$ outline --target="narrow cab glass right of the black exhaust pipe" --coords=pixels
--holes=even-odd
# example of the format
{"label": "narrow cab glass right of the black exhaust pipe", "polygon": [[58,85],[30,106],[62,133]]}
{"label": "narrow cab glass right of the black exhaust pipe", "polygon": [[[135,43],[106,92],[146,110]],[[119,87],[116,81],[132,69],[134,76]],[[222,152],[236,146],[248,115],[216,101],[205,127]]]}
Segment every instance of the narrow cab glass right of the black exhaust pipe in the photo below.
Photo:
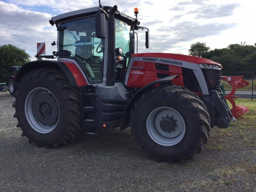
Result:
{"label": "narrow cab glass right of the black exhaust pipe", "polygon": [[132,46],[132,31],[130,31],[131,26],[127,25],[125,22],[116,19],[116,48],[121,47],[123,53],[128,59],[130,58],[133,46]]}

